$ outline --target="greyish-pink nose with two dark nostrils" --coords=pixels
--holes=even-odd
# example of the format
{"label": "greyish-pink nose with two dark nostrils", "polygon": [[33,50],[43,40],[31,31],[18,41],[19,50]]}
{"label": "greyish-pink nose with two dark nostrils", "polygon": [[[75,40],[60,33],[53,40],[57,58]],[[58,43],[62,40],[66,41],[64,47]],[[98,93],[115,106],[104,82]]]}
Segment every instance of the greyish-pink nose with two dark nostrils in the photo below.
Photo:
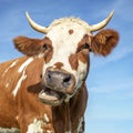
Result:
{"label": "greyish-pink nose with two dark nostrils", "polygon": [[73,85],[74,78],[70,73],[64,73],[61,71],[50,71],[45,72],[45,85],[52,90],[66,93],[66,91]]}

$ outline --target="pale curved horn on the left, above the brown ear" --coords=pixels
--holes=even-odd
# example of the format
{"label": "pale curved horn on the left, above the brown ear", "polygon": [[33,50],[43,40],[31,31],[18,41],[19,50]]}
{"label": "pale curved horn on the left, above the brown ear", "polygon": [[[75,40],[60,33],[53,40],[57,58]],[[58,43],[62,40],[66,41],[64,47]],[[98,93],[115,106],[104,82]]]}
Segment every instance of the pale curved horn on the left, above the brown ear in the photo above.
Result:
{"label": "pale curved horn on the left, above the brown ear", "polygon": [[39,31],[39,32],[41,32],[41,33],[47,33],[47,32],[48,32],[48,28],[42,27],[42,25],[35,23],[35,22],[30,18],[30,16],[29,16],[28,12],[25,12],[25,16],[27,16],[27,19],[28,19],[28,21],[29,21],[29,24],[30,24],[35,31]]}

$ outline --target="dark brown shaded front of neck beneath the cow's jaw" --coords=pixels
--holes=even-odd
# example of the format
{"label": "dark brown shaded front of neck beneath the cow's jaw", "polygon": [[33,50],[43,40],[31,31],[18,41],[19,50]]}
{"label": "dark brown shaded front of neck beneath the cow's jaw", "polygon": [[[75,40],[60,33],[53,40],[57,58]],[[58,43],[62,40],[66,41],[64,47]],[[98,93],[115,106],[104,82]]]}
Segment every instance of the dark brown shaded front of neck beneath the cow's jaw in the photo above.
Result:
{"label": "dark brown shaded front of neck beneath the cow's jaw", "polygon": [[78,129],[78,121],[83,116],[86,106],[85,84],[68,102],[52,108],[53,126],[57,133],[72,133]]}

